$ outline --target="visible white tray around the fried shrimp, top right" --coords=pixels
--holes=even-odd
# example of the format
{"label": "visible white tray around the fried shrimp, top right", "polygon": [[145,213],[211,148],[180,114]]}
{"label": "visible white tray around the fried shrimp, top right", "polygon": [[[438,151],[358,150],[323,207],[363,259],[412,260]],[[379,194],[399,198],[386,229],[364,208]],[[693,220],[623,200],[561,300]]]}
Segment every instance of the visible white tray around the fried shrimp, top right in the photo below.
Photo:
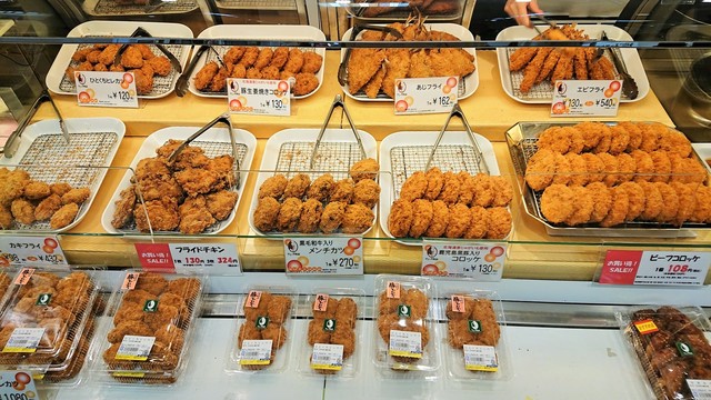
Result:
{"label": "visible white tray around the fried shrimp, top right", "polygon": [[[608,34],[610,40],[620,40],[620,41],[632,41],[632,37],[623,31],[622,29],[613,26],[603,26],[603,24],[578,24],[578,29],[582,29],[591,39],[599,39],[604,31]],[[548,27],[540,27],[539,29],[545,30]],[[499,32],[497,34],[498,41],[515,41],[515,40],[530,40],[533,39],[538,32],[534,29],[530,29],[527,27],[509,27]],[[513,89],[513,83],[511,80],[511,71],[509,70],[509,54],[508,48],[497,48],[497,57],[499,59],[499,74],[501,76],[501,86],[503,87],[503,91],[509,94],[515,101],[529,104],[545,104],[550,103],[553,98],[552,86],[550,90],[550,96],[544,99],[525,99],[515,94]],[[642,66],[642,60],[640,59],[640,54],[637,52],[637,49],[621,48],[620,53],[622,54],[622,61],[627,66],[628,71],[634,78],[637,82],[637,87],[639,89],[639,96],[634,100],[630,99],[620,99],[621,102],[635,102],[642,100],[647,93],[649,93],[649,80],[647,79],[647,72],[644,72],[644,67]],[[521,73],[521,72],[513,72]],[[543,84],[543,83],[539,83]],[[537,86],[534,86],[531,90],[535,90]]]}

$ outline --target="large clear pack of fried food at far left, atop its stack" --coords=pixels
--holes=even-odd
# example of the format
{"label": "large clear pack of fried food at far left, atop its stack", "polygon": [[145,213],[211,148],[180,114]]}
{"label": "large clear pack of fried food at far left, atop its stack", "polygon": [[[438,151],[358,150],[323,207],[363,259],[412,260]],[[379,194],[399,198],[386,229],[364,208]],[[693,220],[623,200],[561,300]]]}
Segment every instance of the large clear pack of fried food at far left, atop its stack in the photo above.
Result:
{"label": "large clear pack of fried food at far left, atop its stack", "polygon": [[72,361],[99,288],[89,272],[23,268],[0,317],[0,366],[42,374]]}

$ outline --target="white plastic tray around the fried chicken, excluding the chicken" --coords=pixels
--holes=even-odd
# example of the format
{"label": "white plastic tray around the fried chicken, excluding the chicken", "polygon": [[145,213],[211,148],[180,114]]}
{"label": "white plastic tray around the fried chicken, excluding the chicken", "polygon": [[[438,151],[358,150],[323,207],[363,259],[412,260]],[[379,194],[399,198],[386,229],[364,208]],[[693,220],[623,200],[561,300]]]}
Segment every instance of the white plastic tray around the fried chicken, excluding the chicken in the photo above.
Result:
{"label": "white plastic tray around the fried chicken, excluding the chicken", "polygon": [[[103,211],[103,214],[101,216],[101,226],[107,232],[141,234],[141,232],[136,228],[136,222],[131,222],[131,226],[123,229],[116,229],[111,226],[113,212],[116,211],[116,201],[118,201],[121,198],[121,191],[131,186],[133,171],[136,170],[136,167],[138,166],[139,161],[141,161],[144,158],[156,157],[157,156],[156,149],[163,146],[166,142],[168,142],[168,140],[170,139],[186,140],[197,130],[198,128],[171,127],[171,128],[160,129],[151,133],[148,138],[146,138],[146,141],[143,141],[143,144],[141,144],[141,148],[138,150],[138,152],[136,153],[136,157],[131,161],[131,164],[129,166],[130,169],[127,170],[126,173],[123,174],[123,179],[121,179],[121,182],[119,183],[116,191],[113,192],[113,196],[111,197],[111,201],[109,202],[106,210]],[[206,231],[202,234],[216,234],[224,230],[224,228],[227,228],[230,223],[232,223],[232,220],[234,220],[234,214],[237,212],[237,209],[239,208],[240,202],[242,201],[244,182],[247,182],[247,179],[249,177],[249,172],[246,170],[248,170],[249,167],[252,164],[252,160],[254,158],[254,150],[257,148],[257,139],[251,132],[246,131],[243,129],[232,129],[232,131],[234,132],[234,138],[237,141],[236,143],[237,159],[234,160],[236,162],[233,164],[233,171],[236,176],[238,174],[238,171],[239,171],[240,179],[239,179],[238,186],[230,188],[230,190],[238,193],[237,203],[234,204],[234,208],[232,209],[232,211],[230,212],[230,216],[226,220],[216,222],[214,224],[206,229]],[[227,128],[210,128],[210,130],[208,130],[200,137],[200,140],[194,140],[193,142],[190,143],[190,146],[202,148],[202,150],[204,150],[204,154],[210,158],[222,156],[222,154],[230,154],[230,156],[232,154],[232,144],[230,142]],[[180,234],[180,231],[178,230],[153,231],[153,234],[176,234],[176,233]]]}

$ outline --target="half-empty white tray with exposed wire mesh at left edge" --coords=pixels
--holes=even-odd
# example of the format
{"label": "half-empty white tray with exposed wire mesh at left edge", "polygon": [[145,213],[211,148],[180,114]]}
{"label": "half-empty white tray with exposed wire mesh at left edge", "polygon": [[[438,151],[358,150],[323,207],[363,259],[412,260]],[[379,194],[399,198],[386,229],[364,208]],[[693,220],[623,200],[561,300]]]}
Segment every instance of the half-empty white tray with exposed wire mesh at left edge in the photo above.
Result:
{"label": "half-empty white tray with exposed wire mesh at left edge", "polygon": [[73,222],[64,228],[53,230],[49,221],[32,224],[16,221],[14,230],[63,232],[77,226],[91,208],[126,132],[123,122],[114,118],[70,118],[64,122],[69,143],[64,141],[58,120],[33,123],[22,133],[17,153],[11,159],[2,157],[0,167],[21,168],[32,180],[49,184],[67,182],[72,188],[89,188],[91,193]]}

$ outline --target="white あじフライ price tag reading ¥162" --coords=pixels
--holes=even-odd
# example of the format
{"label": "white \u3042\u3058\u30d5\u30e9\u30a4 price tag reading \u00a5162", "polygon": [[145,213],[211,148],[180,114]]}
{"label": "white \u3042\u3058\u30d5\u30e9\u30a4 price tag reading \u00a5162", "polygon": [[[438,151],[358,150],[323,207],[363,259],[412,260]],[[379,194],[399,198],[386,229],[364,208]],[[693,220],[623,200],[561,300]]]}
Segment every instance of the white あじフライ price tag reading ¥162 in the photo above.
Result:
{"label": "white \u3042\u3058\u30d5\u30e9\u30a4 price tag reading \u00a5162", "polygon": [[458,77],[395,79],[395,116],[450,112]]}

